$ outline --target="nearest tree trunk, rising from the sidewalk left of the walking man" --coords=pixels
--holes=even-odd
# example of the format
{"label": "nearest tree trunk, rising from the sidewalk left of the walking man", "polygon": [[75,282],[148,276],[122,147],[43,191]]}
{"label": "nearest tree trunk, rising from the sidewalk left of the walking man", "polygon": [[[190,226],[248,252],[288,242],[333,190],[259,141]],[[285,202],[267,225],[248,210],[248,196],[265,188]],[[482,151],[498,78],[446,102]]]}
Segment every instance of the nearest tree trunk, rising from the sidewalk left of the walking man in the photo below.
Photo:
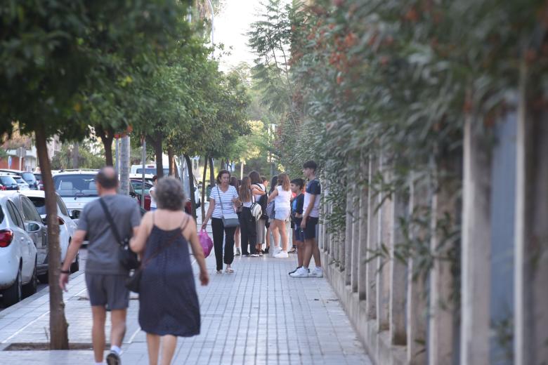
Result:
{"label": "nearest tree trunk, rising from the sidewalk left of the walking man", "polygon": [[37,154],[40,160],[40,170],[44,190],[46,192],[46,217],[48,227],[48,280],[49,280],[49,331],[50,350],[68,350],[68,324],[65,319],[65,303],[63,291],[59,286],[61,269],[61,250],[59,246],[59,221],[57,218],[56,191],[53,187],[51,164],[48,157],[48,147],[44,126],[37,127]]}

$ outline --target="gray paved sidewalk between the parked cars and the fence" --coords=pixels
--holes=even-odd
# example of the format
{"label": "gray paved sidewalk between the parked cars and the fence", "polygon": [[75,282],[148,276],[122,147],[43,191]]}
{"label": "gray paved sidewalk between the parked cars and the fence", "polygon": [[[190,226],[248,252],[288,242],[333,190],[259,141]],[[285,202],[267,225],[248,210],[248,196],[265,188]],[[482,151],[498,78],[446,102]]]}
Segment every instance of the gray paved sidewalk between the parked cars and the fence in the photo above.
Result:
{"label": "gray paved sidewalk between the parked cars and the fence", "polygon": [[[207,258],[211,282],[197,286],[202,333],[179,338],[174,364],[370,364],[327,281],[290,278],[287,272],[295,266],[295,255],[237,256],[235,274],[218,275],[212,253]],[[122,361],[148,364],[136,294],[131,298]],[[83,272],[71,276],[65,304],[70,343],[91,344]],[[0,312],[0,351],[12,344],[47,343],[48,320],[47,289]],[[92,364],[93,353],[91,349],[2,351],[0,359],[4,364]]]}

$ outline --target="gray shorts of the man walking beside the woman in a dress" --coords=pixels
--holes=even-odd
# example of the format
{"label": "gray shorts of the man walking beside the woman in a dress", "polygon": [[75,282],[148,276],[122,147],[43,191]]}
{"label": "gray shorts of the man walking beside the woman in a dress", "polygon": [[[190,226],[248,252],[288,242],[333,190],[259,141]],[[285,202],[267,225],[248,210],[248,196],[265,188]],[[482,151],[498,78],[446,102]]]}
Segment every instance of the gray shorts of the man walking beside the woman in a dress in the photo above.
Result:
{"label": "gray shorts of the man walking beside the woman in a dress", "polygon": [[91,305],[106,305],[109,310],[124,310],[129,307],[126,279],[126,275],[86,272],[86,286]]}

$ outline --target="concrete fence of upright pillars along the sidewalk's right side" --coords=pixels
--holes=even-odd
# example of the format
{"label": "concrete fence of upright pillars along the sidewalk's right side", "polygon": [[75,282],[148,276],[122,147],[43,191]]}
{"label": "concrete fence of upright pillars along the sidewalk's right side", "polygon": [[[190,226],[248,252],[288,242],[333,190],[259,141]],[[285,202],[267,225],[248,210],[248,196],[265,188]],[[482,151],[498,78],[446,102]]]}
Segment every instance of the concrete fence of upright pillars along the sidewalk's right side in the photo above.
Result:
{"label": "concrete fence of upright pillars along the sidewalk's right side", "polygon": [[[391,162],[364,152],[346,230],[320,225],[326,277],[376,364],[547,363],[548,114],[521,106],[490,130],[467,121],[462,156],[432,169],[460,182],[411,173],[377,192]],[[415,218],[429,226],[405,227]],[[398,260],[402,242],[422,253]]]}

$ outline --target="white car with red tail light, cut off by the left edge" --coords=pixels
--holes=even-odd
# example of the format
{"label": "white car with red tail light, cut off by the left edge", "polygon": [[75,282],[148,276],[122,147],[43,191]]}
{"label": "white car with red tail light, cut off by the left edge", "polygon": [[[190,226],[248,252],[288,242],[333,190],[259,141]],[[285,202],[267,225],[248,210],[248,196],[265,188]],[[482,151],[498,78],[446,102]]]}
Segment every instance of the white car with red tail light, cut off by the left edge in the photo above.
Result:
{"label": "white car with red tail light, cut off by the left edge", "polygon": [[23,222],[11,197],[0,197],[0,293],[4,305],[36,293],[37,248],[30,234],[40,230],[37,223]]}

